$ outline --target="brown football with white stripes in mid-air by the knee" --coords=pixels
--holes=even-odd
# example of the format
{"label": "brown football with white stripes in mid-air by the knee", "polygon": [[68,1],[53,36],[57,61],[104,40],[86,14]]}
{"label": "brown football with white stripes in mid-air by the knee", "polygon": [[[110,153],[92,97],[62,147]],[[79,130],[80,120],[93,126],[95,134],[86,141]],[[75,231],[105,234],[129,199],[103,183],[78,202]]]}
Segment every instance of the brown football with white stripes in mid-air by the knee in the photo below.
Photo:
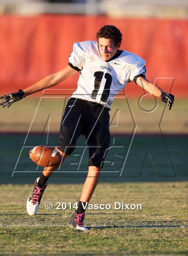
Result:
{"label": "brown football with white stripes in mid-air by the knee", "polygon": [[43,167],[54,166],[61,161],[61,155],[57,149],[48,146],[37,146],[30,150],[31,160]]}

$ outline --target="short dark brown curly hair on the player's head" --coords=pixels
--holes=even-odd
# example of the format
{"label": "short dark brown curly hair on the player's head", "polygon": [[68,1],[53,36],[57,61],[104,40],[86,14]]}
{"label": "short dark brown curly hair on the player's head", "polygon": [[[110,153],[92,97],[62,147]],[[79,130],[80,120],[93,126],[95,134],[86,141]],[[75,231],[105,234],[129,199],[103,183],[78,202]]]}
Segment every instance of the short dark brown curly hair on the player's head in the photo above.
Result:
{"label": "short dark brown curly hair on the player's head", "polygon": [[114,25],[105,25],[97,32],[97,41],[99,37],[110,38],[114,40],[115,46],[121,44],[122,34]]}

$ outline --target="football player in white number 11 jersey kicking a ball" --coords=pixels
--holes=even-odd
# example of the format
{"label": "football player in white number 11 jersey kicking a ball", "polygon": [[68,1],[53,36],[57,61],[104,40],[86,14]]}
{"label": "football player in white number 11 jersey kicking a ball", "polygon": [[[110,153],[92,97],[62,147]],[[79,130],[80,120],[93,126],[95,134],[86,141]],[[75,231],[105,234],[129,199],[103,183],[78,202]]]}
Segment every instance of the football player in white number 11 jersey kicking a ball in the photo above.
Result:
{"label": "football player in white number 11 jersey kicking a ball", "polygon": [[[87,231],[83,225],[85,208],[98,183],[103,161],[110,143],[109,111],[111,103],[130,81],[134,81],[144,90],[156,97],[161,97],[169,104],[174,96],[164,92],[145,78],[145,60],[125,50],[120,50],[122,34],[113,25],[105,25],[97,32],[96,41],[83,41],[73,45],[68,66],[51,74],[30,87],[0,97],[2,107],[10,107],[27,95],[58,85],[69,76],[80,72],[77,90],[69,98],[60,124],[59,145],[56,148],[62,161],[70,155],[77,138],[85,135],[89,146],[89,171],[77,211],[71,216],[71,225],[75,229]],[[34,215],[47,187],[47,180],[58,166],[45,167],[40,177],[35,180],[34,187],[27,199],[27,212]]]}

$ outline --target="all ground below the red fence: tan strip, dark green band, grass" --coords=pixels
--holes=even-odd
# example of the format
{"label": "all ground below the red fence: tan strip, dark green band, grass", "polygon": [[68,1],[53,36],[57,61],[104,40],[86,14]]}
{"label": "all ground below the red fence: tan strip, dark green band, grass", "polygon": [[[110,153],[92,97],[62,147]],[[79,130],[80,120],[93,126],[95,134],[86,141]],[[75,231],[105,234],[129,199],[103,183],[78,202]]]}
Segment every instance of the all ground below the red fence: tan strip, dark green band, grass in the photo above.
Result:
{"label": "all ground below the red fence: tan strip, dark green band, grass", "polygon": [[[1,109],[0,255],[188,255],[187,101],[176,100],[172,110],[166,108],[164,113],[161,102],[156,111],[149,113],[141,111],[135,99],[115,101],[111,146],[114,143],[117,148],[109,150],[106,159],[110,162],[104,164],[91,200],[110,203],[112,208],[87,210],[88,233],[68,227],[73,210],[56,210],[56,202],[79,200],[87,175],[87,154],[79,170],[73,165],[77,158],[67,158],[51,176],[38,214],[26,213],[27,197],[42,171],[36,170],[28,158],[29,151],[38,144],[57,144],[63,110],[62,99],[45,98],[36,112],[38,102],[37,98],[28,98],[14,108]],[[145,103],[143,108],[153,108],[152,100]],[[78,139],[78,145],[83,143],[83,137]],[[76,149],[74,153],[81,152]],[[46,202],[54,204],[51,211],[45,208]],[[142,210],[114,210],[114,202],[141,203]]]}

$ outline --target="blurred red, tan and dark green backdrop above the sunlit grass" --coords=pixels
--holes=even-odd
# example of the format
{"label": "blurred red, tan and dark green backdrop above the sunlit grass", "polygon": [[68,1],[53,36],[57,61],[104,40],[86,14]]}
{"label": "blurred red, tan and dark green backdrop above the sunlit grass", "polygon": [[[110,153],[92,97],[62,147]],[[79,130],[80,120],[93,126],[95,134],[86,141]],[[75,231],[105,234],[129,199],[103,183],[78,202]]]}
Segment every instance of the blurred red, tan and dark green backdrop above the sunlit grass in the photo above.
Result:
{"label": "blurred red, tan and dark green backdrop above the sunlit grass", "polygon": [[[147,79],[175,95],[169,112],[160,99],[141,98],[141,87],[129,83],[112,104],[113,141],[125,146],[119,154],[129,153],[131,160],[126,163],[137,177],[145,168],[142,178],[146,180],[158,179],[164,170],[167,180],[184,179],[188,164],[187,13],[187,0],[1,0],[0,94],[24,89],[64,68],[74,42],[95,40],[102,26],[113,24],[123,34],[120,49],[144,58]],[[11,175],[22,177],[24,170],[26,176],[31,175],[29,148],[56,145],[64,105],[77,87],[78,75],[0,110],[2,182],[10,182]],[[83,144],[83,139],[78,144]],[[157,169],[160,175],[156,175]],[[113,170],[117,176],[122,174],[122,166]]]}

